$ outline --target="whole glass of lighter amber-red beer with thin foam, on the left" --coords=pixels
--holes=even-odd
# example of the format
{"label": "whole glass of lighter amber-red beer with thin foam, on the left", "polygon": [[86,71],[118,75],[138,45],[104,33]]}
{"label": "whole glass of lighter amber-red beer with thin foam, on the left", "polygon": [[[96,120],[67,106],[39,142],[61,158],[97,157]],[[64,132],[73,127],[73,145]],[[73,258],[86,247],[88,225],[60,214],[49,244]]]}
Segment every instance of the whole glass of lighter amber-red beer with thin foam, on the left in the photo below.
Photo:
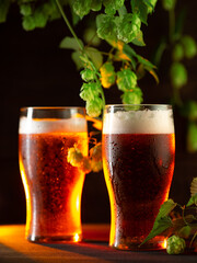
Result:
{"label": "whole glass of lighter amber-red beer with thin foam, on the left", "polygon": [[84,108],[21,108],[19,157],[28,241],[77,242],[82,238],[84,173],[67,162],[68,148],[74,145],[88,156]]}

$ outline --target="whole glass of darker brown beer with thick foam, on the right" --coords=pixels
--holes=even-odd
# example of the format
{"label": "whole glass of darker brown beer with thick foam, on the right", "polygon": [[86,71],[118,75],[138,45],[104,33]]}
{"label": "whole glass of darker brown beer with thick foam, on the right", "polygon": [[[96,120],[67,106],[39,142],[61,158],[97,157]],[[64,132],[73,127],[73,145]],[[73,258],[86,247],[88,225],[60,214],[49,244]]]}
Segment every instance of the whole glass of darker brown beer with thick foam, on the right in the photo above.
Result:
{"label": "whole glass of darker brown beer with thick foam, on the right", "polygon": [[[111,202],[109,245],[138,250],[166,201],[174,170],[170,105],[106,105],[103,165]],[[158,237],[141,249],[163,248]]]}

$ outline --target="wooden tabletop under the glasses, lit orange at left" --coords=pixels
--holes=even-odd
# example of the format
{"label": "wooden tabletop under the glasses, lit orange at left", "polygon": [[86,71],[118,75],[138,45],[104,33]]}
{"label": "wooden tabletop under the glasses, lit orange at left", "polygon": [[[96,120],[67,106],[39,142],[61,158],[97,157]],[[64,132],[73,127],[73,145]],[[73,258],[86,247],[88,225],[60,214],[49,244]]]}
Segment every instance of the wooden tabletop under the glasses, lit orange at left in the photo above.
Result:
{"label": "wooden tabletop under the glasses, lit orange at left", "polygon": [[0,263],[197,263],[197,254],[167,255],[165,251],[115,250],[108,247],[108,225],[84,225],[84,241],[81,243],[36,244],[24,239],[24,226],[0,226]]}

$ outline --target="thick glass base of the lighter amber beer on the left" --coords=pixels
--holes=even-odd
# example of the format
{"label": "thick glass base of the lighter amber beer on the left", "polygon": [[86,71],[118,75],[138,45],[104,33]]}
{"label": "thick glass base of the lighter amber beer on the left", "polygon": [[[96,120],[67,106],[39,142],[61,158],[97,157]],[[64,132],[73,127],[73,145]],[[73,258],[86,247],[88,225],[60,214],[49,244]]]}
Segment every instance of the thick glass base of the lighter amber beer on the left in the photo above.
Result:
{"label": "thick glass base of the lighter amber beer on the left", "polygon": [[74,233],[71,236],[32,236],[26,238],[30,242],[35,243],[67,243],[67,242],[80,242],[82,240],[81,233]]}

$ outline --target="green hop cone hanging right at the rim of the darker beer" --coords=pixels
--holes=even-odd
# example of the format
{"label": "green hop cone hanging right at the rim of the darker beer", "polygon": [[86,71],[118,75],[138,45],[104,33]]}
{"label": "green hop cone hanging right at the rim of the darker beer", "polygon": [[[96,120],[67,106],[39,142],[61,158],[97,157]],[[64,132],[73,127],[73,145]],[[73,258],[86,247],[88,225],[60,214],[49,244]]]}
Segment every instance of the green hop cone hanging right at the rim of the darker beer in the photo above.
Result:
{"label": "green hop cone hanging right at the rim of the darker beer", "polygon": [[135,88],[132,91],[126,91],[121,95],[121,101],[124,104],[141,104],[142,91],[139,88]]}

